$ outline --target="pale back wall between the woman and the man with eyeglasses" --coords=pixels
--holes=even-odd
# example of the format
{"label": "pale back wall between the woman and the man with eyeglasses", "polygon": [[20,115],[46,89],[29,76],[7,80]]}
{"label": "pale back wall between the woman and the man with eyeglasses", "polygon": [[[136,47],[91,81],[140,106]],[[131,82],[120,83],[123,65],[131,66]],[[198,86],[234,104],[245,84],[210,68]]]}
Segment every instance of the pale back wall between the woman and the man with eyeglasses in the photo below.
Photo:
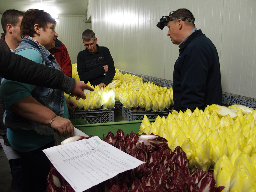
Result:
{"label": "pale back wall between the woman and the man with eyeglasses", "polygon": [[91,23],[85,23],[85,16],[59,16],[56,19],[58,39],[67,47],[71,63],[76,63],[77,55],[85,47],[82,42],[82,33],[91,29]]}

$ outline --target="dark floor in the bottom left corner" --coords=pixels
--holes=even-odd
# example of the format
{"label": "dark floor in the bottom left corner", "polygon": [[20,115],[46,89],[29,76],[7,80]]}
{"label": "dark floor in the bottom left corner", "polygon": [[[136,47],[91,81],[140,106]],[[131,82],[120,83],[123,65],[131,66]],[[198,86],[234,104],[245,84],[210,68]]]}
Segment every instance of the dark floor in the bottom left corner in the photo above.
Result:
{"label": "dark floor in the bottom left corner", "polygon": [[[2,139],[2,137],[0,137]],[[16,192],[11,188],[12,175],[9,160],[0,144],[0,192]]]}

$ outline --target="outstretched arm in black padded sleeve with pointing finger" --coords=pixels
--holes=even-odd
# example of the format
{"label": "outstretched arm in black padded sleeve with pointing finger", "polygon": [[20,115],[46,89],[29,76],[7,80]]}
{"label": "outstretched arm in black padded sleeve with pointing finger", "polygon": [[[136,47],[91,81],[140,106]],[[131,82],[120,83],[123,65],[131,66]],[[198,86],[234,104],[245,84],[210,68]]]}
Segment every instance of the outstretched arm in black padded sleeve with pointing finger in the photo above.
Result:
{"label": "outstretched arm in black padded sleeve with pointing finger", "polygon": [[41,65],[20,55],[0,50],[0,75],[8,80],[31,85],[60,89],[85,98],[84,89],[92,88],[82,82],[76,82],[63,72]]}

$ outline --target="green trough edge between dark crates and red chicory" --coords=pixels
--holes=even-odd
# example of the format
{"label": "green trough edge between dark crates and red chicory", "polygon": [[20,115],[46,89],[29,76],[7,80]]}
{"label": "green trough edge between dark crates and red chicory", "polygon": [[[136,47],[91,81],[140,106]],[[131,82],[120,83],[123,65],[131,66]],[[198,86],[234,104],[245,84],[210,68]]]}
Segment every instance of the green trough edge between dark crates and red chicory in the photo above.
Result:
{"label": "green trough edge between dark crates and red chicory", "polygon": [[[150,122],[154,122],[155,120],[156,119],[149,119]],[[103,138],[103,134],[105,134],[106,137],[109,131],[115,135],[118,129],[122,129],[124,134],[130,134],[132,131],[134,131],[134,133],[138,133],[142,120],[96,124],[88,124],[85,119],[70,119],[70,121],[74,127],[83,131],[88,136],[97,135],[99,138]]]}

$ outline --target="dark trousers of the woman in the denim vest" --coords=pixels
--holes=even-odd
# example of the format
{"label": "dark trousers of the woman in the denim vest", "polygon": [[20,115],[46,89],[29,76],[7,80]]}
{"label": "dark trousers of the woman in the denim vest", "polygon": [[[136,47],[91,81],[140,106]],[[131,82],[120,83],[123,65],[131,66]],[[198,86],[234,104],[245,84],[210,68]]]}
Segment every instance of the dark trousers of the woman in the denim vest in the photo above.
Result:
{"label": "dark trousers of the woman in the denim vest", "polygon": [[51,163],[42,150],[53,146],[54,141],[34,151],[17,151],[21,159],[23,192],[46,191]]}

